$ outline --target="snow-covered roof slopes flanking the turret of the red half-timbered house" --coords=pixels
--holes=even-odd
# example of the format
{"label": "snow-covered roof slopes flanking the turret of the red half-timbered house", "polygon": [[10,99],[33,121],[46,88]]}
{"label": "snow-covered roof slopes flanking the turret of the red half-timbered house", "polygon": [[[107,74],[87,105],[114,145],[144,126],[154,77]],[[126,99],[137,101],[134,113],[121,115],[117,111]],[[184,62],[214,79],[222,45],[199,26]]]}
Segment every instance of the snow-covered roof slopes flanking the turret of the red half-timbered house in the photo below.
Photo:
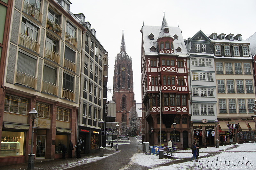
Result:
{"label": "snow-covered roof slopes flanking the turret of the red half-timbered house", "polygon": [[[173,37],[175,34],[178,36],[178,39],[174,39],[173,41],[173,47],[174,47],[174,53],[179,55],[179,54],[184,54],[188,53],[184,39],[182,37],[182,33],[180,30],[180,27],[173,27],[169,26],[169,32],[170,35]],[[144,42],[144,49],[145,53],[152,53],[150,51],[150,48],[152,46],[155,46],[156,48],[158,47],[158,43],[156,42],[158,35],[161,31],[161,26],[147,26],[144,25],[142,26],[142,33],[143,33],[143,42]],[[149,39],[149,34],[152,33],[154,35],[154,39]],[[176,49],[180,47],[181,48],[181,53],[176,52]]]}

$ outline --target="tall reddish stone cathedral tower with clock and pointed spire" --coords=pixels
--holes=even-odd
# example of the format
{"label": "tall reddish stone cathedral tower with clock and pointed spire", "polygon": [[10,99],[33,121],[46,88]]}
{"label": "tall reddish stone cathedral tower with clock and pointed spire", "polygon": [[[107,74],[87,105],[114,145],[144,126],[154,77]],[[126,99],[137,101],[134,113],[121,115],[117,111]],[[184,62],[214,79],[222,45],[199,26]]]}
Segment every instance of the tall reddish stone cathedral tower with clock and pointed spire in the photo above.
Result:
{"label": "tall reddish stone cathedral tower with clock and pointed spire", "polygon": [[124,30],[121,50],[116,56],[113,80],[113,101],[116,103],[116,122],[119,122],[121,133],[126,134],[126,127],[129,127],[129,114],[132,106],[135,106],[135,95],[133,90],[132,60],[125,51]]}

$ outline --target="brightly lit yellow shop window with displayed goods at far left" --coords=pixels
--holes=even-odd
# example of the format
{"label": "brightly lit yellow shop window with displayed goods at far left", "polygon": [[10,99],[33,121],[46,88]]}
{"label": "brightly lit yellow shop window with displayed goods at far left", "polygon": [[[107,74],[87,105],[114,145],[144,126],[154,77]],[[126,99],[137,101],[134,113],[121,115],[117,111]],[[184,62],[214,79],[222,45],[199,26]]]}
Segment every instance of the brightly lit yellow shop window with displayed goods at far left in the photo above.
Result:
{"label": "brightly lit yellow shop window with displayed goods at far left", "polygon": [[20,156],[24,154],[25,132],[2,131],[0,156]]}

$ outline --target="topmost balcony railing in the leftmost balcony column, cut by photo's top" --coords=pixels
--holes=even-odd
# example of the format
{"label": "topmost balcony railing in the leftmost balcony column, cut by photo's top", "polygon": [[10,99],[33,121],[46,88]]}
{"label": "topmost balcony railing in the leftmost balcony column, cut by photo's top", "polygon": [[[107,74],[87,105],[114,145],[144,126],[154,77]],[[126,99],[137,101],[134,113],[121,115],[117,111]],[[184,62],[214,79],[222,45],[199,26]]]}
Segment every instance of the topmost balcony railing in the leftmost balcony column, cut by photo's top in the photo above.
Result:
{"label": "topmost balcony railing in the leftmost balcony column, cut by photo's top", "polygon": [[24,1],[23,11],[36,18],[36,20],[42,24],[43,14],[34,4],[29,4],[28,2]]}

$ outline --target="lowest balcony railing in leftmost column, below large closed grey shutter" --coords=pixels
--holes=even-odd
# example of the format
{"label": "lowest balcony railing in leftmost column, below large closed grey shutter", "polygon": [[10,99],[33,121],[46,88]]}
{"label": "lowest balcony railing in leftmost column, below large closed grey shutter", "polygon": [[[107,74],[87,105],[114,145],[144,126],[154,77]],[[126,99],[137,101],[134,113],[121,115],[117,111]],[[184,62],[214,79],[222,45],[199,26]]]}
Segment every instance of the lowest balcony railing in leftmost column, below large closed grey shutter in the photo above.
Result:
{"label": "lowest balcony railing in leftmost column, below large closed grey shutter", "polygon": [[16,83],[36,89],[36,77],[16,71]]}

